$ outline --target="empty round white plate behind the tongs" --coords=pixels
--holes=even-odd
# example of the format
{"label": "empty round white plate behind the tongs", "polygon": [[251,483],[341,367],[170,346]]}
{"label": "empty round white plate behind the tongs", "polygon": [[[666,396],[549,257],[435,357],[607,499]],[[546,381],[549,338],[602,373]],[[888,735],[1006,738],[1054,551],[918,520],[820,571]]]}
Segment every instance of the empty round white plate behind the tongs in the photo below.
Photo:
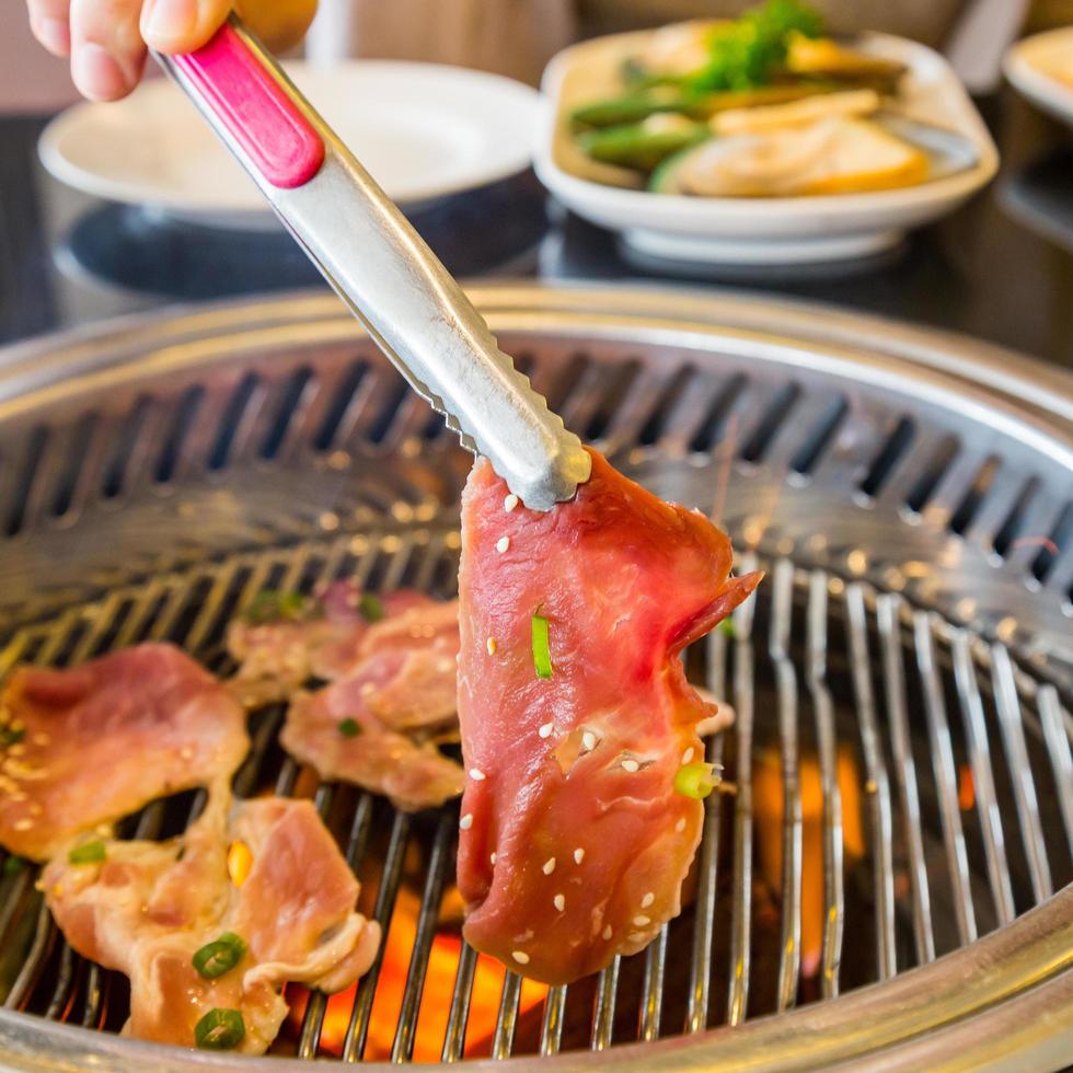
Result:
{"label": "empty round white plate behind the tongs", "polygon": [[[395,201],[414,207],[529,166],[539,94],[435,64],[359,60],[288,74]],[[114,201],[219,226],[274,220],[256,186],[171,82],[78,104],[38,145],[57,178]]]}

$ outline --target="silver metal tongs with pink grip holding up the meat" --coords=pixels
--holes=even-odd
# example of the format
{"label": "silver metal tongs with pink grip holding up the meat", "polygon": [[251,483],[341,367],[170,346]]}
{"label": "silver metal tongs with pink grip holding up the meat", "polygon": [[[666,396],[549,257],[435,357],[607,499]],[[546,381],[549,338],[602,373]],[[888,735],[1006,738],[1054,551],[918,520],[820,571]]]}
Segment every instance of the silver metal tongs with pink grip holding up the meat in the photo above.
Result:
{"label": "silver metal tongs with pink grip holding up the meat", "polygon": [[155,58],[462,443],[527,507],[570,499],[591,468],[581,441],[264,46],[232,16],[197,51]]}

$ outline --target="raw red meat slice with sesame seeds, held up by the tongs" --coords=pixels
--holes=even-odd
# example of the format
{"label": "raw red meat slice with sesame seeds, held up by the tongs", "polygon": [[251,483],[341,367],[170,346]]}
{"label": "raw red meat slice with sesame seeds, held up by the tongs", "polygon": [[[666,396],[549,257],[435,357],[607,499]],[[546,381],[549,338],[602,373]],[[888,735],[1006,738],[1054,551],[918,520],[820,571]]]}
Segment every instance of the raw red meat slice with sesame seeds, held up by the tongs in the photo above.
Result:
{"label": "raw red meat slice with sesame seeds, held up by the tongs", "polygon": [[591,453],[591,478],[546,514],[486,462],[463,498],[464,934],[552,984],[642,949],[679,912],[711,782],[696,727],[713,714],[679,654],[760,580],[729,576],[707,518]]}

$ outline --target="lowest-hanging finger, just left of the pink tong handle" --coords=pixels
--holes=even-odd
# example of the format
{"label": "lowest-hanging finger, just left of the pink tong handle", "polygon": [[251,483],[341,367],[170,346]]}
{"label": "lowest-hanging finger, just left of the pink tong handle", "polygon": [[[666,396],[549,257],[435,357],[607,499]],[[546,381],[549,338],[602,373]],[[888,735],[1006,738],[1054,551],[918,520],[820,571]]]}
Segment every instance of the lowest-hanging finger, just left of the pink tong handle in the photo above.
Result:
{"label": "lowest-hanging finger, just left of the pink tong handle", "polygon": [[91,101],[126,96],[141,78],[141,0],[71,0],[71,77]]}

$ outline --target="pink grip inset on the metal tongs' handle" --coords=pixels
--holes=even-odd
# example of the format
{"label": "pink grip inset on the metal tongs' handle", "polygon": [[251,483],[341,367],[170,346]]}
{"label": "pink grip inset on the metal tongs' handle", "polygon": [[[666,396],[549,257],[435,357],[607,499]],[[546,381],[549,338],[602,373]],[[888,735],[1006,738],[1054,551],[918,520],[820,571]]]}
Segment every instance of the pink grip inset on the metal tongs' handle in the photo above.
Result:
{"label": "pink grip inset on the metal tongs' handle", "polygon": [[320,135],[230,22],[172,62],[273,186],[304,186],[320,171]]}

